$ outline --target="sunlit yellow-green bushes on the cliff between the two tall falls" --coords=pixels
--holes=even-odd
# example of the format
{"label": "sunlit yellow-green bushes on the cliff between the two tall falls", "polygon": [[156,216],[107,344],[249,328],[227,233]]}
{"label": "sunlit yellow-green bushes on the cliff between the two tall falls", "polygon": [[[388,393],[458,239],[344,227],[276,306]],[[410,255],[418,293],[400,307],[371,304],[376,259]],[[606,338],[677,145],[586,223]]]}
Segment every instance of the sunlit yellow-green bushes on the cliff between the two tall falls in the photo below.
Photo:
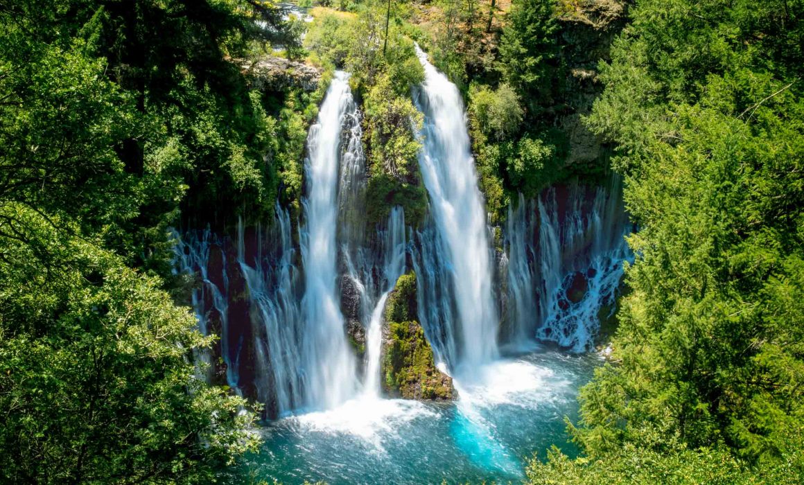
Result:
{"label": "sunlit yellow-green bushes on the cliff between the two tall falls", "polygon": [[[413,41],[397,25],[404,5],[395,3],[388,12],[385,2],[360,2],[352,10],[315,9],[305,45],[314,62],[351,73],[355,96],[363,104],[367,223],[385,220],[400,205],[406,222],[416,227],[425,216],[427,193],[417,162],[416,130],[422,119],[410,92],[424,72]],[[394,21],[388,32],[386,14]]]}

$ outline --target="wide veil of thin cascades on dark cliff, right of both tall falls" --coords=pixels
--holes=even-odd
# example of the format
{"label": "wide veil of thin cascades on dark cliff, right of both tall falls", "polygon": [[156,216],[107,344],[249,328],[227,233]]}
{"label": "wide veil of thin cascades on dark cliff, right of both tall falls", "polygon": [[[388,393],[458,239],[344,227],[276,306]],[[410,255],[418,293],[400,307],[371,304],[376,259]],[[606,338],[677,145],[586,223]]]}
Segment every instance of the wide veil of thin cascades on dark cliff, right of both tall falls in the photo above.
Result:
{"label": "wide veil of thin cascades on dark cliff, right of both tall falls", "polygon": [[551,187],[535,201],[520,195],[505,236],[507,343],[538,338],[590,350],[601,318],[614,311],[622,262],[633,261],[624,238],[632,230],[617,179]]}

